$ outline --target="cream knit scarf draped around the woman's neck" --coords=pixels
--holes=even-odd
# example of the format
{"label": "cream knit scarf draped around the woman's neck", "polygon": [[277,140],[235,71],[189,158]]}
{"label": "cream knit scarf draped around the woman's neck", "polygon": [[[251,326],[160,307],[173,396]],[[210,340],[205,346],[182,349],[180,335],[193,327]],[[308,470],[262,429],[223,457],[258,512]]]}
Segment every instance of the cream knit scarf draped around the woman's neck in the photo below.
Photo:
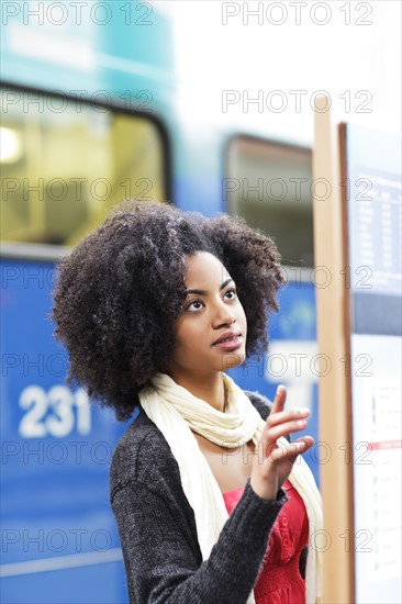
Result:
{"label": "cream knit scarf draped around the woman's neck", "polygon": [[[228,514],[222,492],[191,429],[216,445],[236,448],[248,440],[257,446],[265,426],[265,421],[243,390],[228,376],[222,376],[227,393],[225,413],[193,396],[166,373],[155,373],[150,385],[139,392],[142,407],[165,436],[178,462],[182,488],[194,512],[203,560],[208,560]],[[293,465],[289,480],[302,496],[309,517],[305,602],[315,604],[322,599],[322,557],[314,547],[316,532],[323,526],[321,495],[301,456]],[[254,602],[252,591],[247,604]]]}

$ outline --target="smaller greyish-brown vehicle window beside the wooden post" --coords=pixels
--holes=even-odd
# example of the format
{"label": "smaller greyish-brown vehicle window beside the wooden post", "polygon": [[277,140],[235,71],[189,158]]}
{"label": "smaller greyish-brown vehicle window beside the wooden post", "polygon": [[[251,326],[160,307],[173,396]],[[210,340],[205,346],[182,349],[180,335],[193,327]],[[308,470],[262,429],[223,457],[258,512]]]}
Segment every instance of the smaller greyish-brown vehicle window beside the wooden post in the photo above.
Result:
{"label": "smaller greyish-brown vehicle window beside the wooden post", "polygon": [[227,212],[273,236],[283,265],[313,266],[311,150],[235,136],[227,147],[226,177]]}

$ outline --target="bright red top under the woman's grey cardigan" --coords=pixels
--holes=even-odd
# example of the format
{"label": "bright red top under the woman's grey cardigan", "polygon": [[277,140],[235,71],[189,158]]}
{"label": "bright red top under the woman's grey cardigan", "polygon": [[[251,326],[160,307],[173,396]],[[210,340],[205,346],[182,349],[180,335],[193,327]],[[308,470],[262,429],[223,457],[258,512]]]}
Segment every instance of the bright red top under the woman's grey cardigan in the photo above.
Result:
{"label": "bright red top under the woman's grey cardigan", "polygon": [[[257,581],[256,604],[305,604],[305,582],[299,558],[309,541],[309,519],[298,491],[287,480],[282,485],[289,501],[282,506],[269,536]],[[244,486],[223,494],[227,513],[237,504]]]}

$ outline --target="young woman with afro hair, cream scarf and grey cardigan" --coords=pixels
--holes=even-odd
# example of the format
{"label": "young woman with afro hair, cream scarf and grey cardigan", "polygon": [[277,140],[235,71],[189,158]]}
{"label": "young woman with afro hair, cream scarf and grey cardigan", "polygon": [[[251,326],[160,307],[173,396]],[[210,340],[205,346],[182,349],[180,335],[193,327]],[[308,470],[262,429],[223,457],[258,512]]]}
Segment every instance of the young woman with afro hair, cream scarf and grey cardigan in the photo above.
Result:
{"label": "young woman with afro hair, cream scarf and grey cardigan", "polygon": [[111,467],[131,603],[320,600],[321,500],[300,457],[313,439],[287,438],[309,410],[226,374],[267,348],[279,260],[241,219],[134,201],[60,264],[69,382],[119,420],[139,406]]}

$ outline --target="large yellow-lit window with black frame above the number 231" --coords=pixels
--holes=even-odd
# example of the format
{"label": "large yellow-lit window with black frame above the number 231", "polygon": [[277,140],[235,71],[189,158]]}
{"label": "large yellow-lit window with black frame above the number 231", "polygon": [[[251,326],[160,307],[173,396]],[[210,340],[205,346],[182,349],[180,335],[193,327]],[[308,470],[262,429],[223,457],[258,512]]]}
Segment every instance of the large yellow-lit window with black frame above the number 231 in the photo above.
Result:
{"label": "large yellow-lit window with black frame above the number 231", "polygon": [[1,90],[1,238],[75,245],[123,199],[166,200],[164,131],[149,115]]}

